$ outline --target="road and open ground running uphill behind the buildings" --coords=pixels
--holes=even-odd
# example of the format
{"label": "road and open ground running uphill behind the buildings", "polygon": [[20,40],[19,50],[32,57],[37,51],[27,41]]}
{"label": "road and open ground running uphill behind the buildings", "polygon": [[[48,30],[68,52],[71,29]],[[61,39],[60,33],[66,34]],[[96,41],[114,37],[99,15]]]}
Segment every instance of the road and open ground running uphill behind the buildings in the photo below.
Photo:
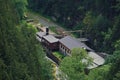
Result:
{"label": "road and open ground running uphill behind the buildings", "polygon": [[55,24],[54,22],[52,22],[51,20],[42,17],[36,13],[27,13],[28,18],[33,19],[34,22],[32,23],[35,26],[43,26],[43,27],[55,27],[56,31],[60,34],[60,35],[69,35],[68,32],[65,32],[66,30],[64,28],[62,28],[61,26]]}

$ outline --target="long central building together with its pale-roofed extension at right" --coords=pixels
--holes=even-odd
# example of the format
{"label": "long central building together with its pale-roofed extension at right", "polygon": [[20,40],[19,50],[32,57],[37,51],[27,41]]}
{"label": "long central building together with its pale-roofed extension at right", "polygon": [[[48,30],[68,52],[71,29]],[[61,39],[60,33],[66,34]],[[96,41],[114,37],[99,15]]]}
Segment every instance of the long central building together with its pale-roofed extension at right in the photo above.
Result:
{"label": "long central building together with its pale-roofed extension at right", "polygon": [[[84,40],[82,40],[84,41]],[[87,69],[93,69],[99,67],[104,64],[105,60],[103,57],[99,56],[97,53],[94,52],[91,48],[89,48],[85,43],[70,37],[66,36],[59,40],[59,50],[64,55],[71,55],[71,50],[74,48],[83,48],[88,52],[88,56],[93,59],[92,65],[89,65]],[[86,60],[84,60],[86,61]]]}

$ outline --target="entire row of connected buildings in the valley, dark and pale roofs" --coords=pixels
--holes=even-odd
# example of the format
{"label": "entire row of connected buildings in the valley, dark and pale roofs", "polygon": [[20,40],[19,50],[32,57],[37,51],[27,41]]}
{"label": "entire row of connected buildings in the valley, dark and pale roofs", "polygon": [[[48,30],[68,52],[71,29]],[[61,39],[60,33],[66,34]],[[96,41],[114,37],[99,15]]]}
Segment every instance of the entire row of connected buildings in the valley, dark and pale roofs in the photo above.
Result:
{"label": "entire row of connected buildings in the valley, dark and pale roofs", "polygon": [[99,54],[95,53],[93,49],[89,48],[84,42],[87,39],[80,38],[75,39],[71,36],[66,36],[61,39],[55,38],[53,35],[49,35],[46,32],[38,32],[37,39],[43,44],[45,48],[50,51],[59,50],[64,55],[71,55],[71,50],[74,48],[83,48],[88,52],[88,56],[93,59],[92,65],[89,65],[87,69],[93,69],[104,64],[105,60]]}

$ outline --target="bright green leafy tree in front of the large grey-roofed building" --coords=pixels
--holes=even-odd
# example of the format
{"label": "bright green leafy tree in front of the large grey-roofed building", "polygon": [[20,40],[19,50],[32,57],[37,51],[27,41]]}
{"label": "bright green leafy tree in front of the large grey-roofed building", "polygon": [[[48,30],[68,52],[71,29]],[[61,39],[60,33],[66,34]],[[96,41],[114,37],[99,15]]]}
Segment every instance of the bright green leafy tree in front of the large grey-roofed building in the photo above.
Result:
{"label": "bright green leafy tree in front of the large grey-roofed building", "polygon": [[79,48],[73,49],[71,56],[65,57],[62,60],[60,69],[68,76],[69,80],[86,80],[84,69],[91,62],[92,59],[87,56],[85,50]]}

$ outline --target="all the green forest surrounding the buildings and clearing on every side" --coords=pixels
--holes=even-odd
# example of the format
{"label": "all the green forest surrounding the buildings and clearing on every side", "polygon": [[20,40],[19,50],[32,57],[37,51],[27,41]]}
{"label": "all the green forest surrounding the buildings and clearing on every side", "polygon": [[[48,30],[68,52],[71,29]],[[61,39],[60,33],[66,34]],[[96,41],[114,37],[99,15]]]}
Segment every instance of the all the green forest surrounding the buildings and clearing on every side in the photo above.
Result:
{"label": "all the green forest surrounding the buildings and clearing on every side", "polygon": [[86,52],[74,50],[60,64],[61,80],[120,79],[120,0],[0,0],[0,6],[0,80],[55,80],[37,29],[24,20],[29,10],[67,30],[83,30],[92,48],[110,55],[86,75],[89,63],[79,61]]}

